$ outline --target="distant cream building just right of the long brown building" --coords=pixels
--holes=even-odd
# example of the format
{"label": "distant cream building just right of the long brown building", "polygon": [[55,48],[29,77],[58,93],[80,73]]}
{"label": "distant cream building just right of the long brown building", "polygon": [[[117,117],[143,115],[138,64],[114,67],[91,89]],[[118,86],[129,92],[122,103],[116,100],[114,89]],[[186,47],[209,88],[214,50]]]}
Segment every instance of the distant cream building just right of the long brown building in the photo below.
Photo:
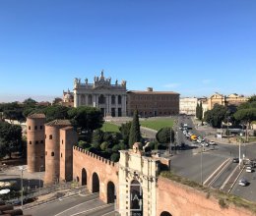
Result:
{"label": "distant cream building just right of the long brown building", "polygon": [[196,115],[198,99],[196,97],[183,97],[179,99],[179,113]]}

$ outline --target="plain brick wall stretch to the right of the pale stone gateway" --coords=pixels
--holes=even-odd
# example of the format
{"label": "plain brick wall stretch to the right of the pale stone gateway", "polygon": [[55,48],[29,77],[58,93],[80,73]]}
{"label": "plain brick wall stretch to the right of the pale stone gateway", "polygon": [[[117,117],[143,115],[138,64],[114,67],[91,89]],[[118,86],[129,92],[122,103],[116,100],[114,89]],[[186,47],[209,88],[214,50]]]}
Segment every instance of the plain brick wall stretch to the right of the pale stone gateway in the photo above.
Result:
{"label": "plain brick wall stretch to the right of the pale stone gateway", "polygon": [[158,182],[157,206],[157,215],[163,211],[169,212],[172,216],[255,215],[230,204],[228,208],[221,208],[219,200],[212,196],[207,198],[207,193],[161,177]]}

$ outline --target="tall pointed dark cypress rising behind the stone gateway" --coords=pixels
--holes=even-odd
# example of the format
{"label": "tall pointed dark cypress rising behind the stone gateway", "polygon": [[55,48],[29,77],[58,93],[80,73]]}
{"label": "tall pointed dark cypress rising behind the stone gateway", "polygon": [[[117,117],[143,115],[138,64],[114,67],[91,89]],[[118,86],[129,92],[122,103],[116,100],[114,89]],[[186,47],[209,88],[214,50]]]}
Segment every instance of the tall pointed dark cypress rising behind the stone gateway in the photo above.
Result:
{"label": "tall pointed dark cypress rising behind the stone gateway", "polygon": [[140,122],[138,116],[138,110],[135,110],[133,115],[133,121],[131,123],[131,129],[129,134],[129,146],[132,148],[133,144],[141,140]]}

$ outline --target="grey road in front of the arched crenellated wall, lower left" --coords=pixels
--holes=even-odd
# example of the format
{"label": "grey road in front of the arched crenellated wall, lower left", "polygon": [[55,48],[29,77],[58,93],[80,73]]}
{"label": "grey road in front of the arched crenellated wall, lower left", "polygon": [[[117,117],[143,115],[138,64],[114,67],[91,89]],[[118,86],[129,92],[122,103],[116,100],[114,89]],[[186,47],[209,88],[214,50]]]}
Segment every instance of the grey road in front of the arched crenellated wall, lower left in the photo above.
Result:
{"label": "grey road in front of the arched crenellated wall, lower left", "polygon": [[[88,194],[85,196],[76,195],[67,197],[61,200],[56,200],[50,203],[38,205],[32,209],[24,210],[25,214],[32,214],[33,216],[71,216],[81,215],[80,212],[89,212],[95,215],[96,212],[107,213],[114,210],[114,206],[106,205],[98,198],[98,193]],[[99,209],[101,211],[99,211]],[[102,215],[99,213],[99,215]],[[85,213],[84,213],[85,215]]]}

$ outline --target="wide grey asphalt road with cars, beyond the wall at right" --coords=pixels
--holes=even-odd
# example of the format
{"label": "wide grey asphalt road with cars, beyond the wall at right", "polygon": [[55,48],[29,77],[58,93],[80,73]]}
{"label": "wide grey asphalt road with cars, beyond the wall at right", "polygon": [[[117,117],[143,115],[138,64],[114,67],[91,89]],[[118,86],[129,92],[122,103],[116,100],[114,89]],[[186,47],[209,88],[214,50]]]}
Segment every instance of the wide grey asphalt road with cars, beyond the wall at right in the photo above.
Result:
{"label": "wide grey asphalt road with cars, beyond the wall at right", "polygon": [[[192,127],[193,134],[202,135],[194,127],[192,121],[188,117],[179,117],[178,124],[175,131],[177,131],[177,144],[185,143],[187,148],[185,150],[173,151],[173,157],[171,157],[171,169],[190,180],[197,183],[201,183],[201,170],[203,182],[214,173],[214,171],[224,162],[226,158],[233,158],[239,156],[239,145],[238,144],[223,144],[217,143],[215,146],[205,147],[206,152],[202,153],[202,169],[201,169],[201,151],[200,149],[193,149],[193,146],[200,146],[199,144],[193,144],[178,129],[180,123],[187,123],[188,126]],[[200,146],[201,147],[201,146]],[[246,158],[256,158],[256,145],[255,144],[241,144],[241,157],[243,155]],[[211,149],[211,150],[209,150]],[[225,180],[229,177],[232,171],[235,169],[237,164],[230,163],[217,180],[212,184],[213,188],[220,189]],[[256,168],[254,168],[256,170]],[[231,189],[231,193],[244,197],[248,200],[256,201],[256,172],[246,173],[243,171],[238,178],[246,178],[250,183],[247,187],[238,186],[238,182]]]}

